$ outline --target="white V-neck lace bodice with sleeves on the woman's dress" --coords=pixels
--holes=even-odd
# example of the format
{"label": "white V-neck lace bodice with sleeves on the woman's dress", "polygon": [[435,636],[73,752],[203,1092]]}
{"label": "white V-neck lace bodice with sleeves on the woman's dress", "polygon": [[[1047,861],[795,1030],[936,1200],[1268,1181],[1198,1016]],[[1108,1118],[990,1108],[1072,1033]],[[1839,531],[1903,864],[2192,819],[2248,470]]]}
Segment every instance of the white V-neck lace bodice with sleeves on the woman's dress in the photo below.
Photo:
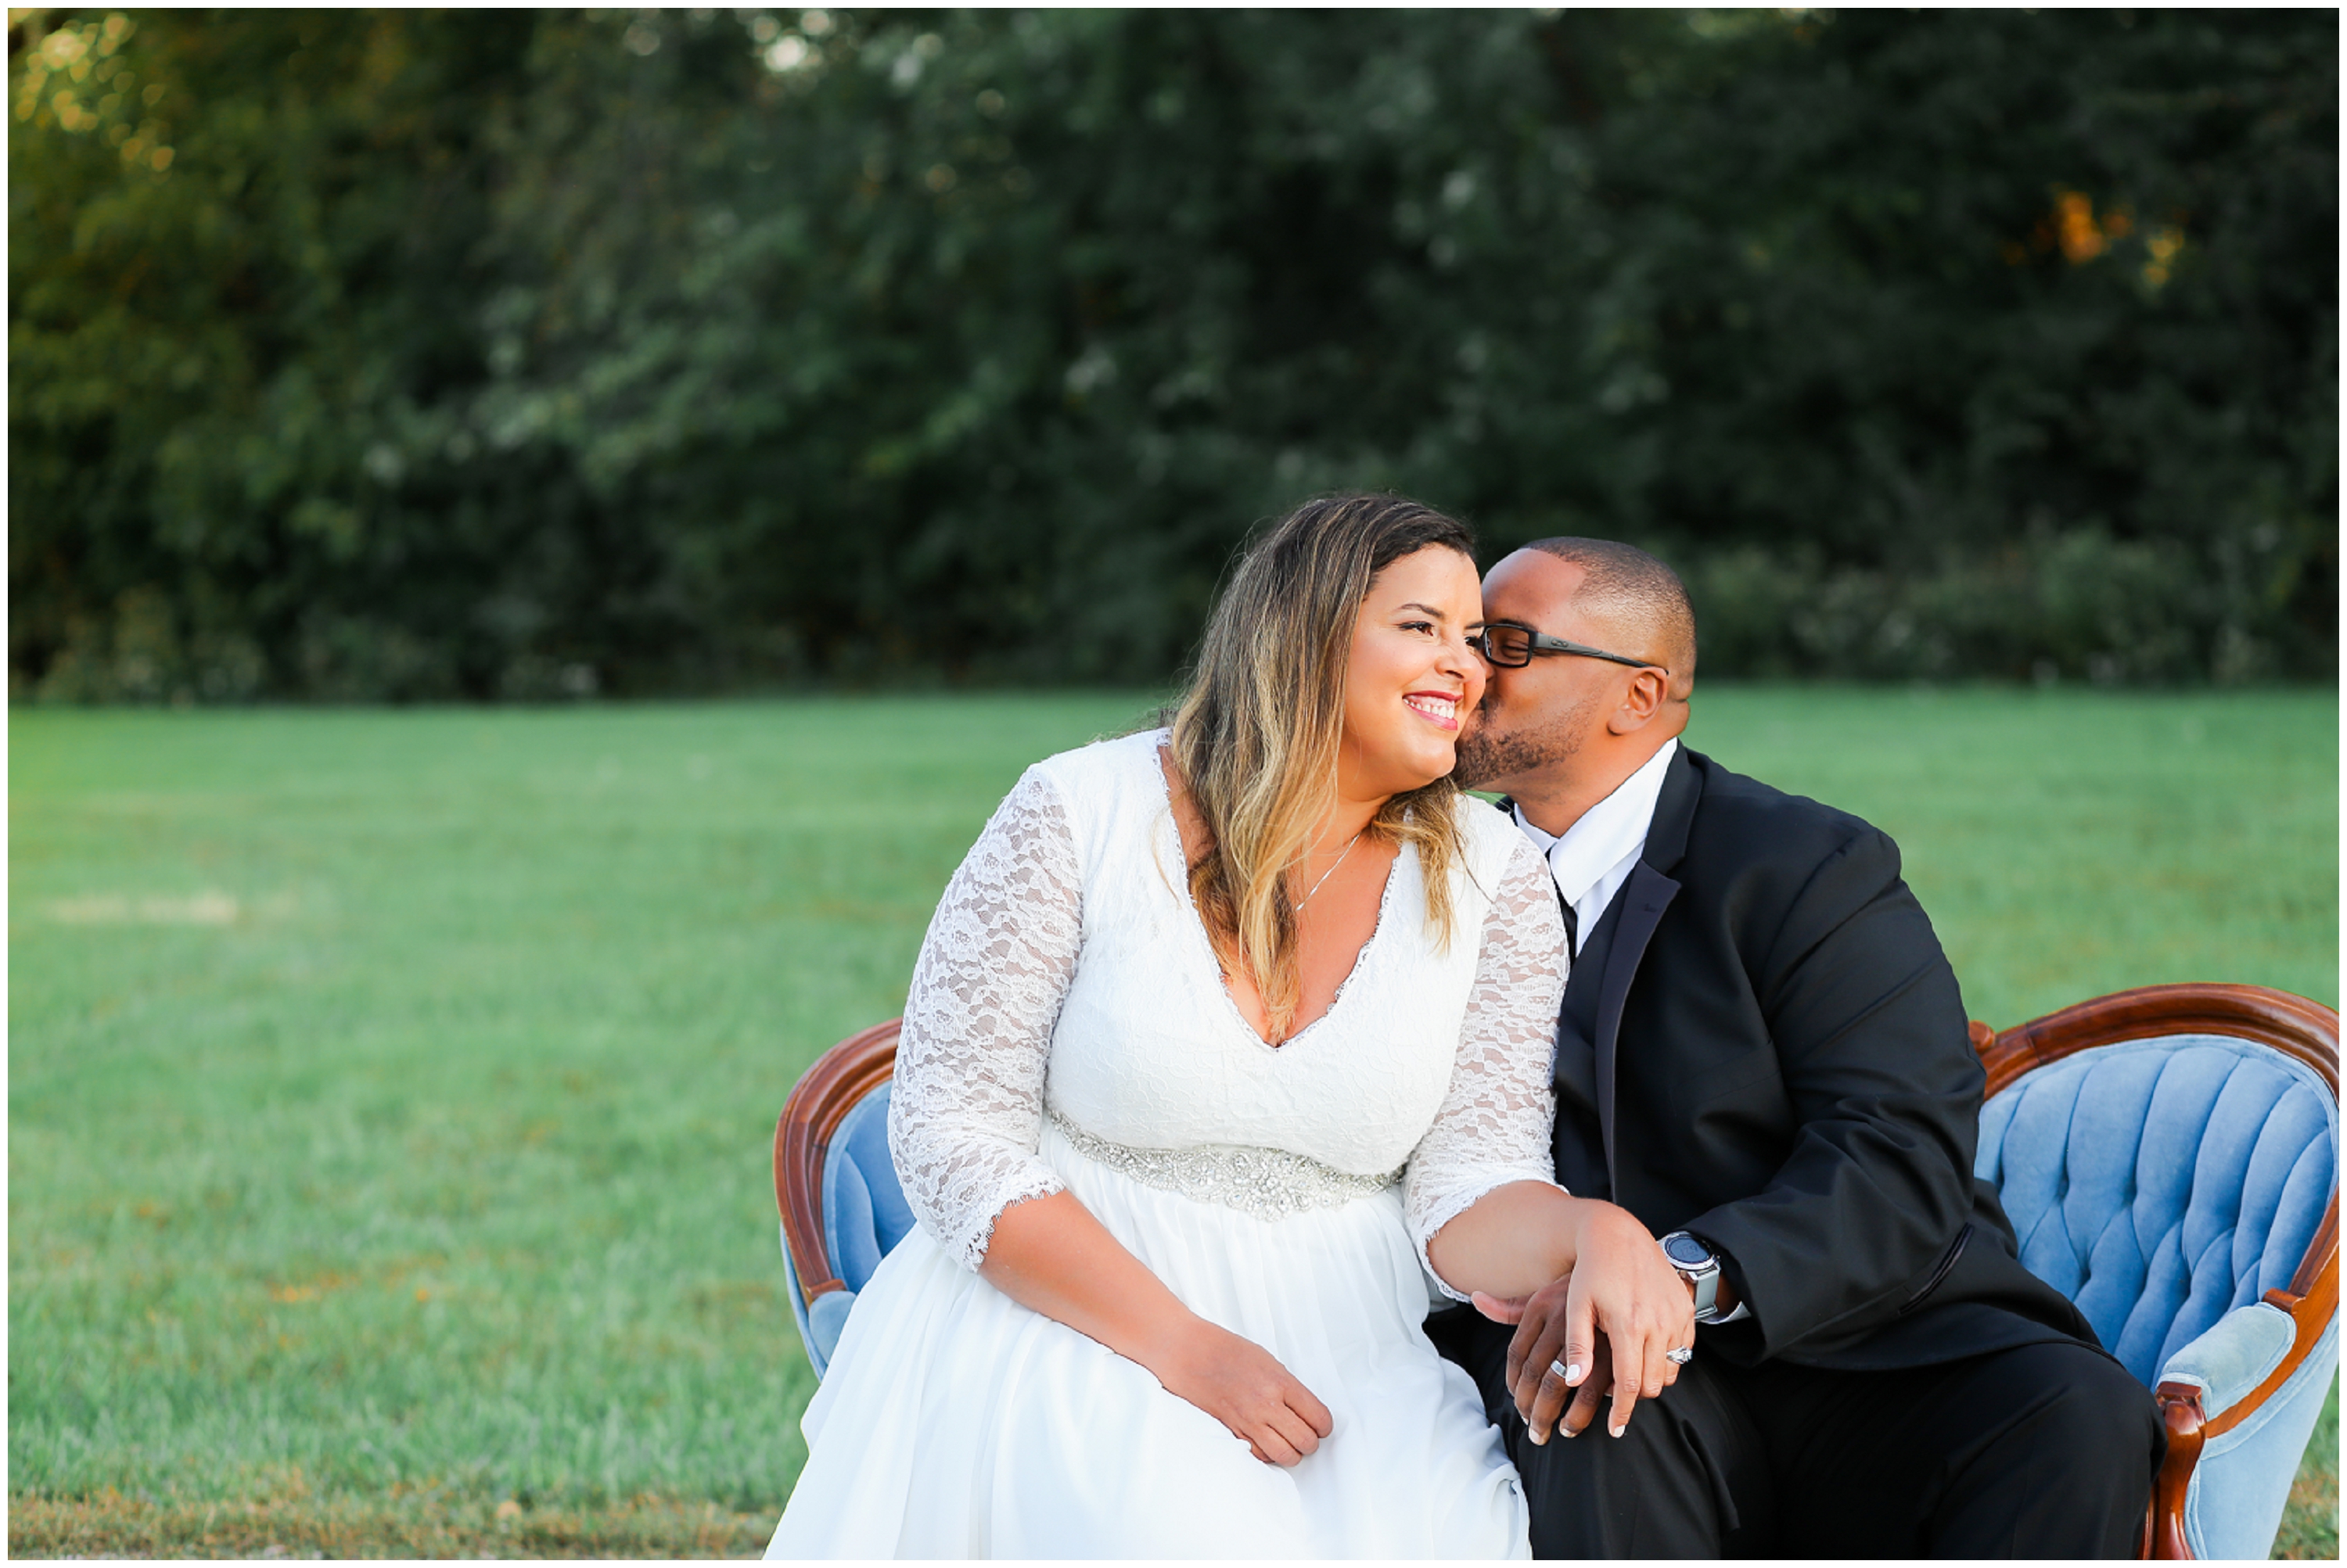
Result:
{"label": "white V-neck lace bodice with sleeves on the woman's dress", "polygon": [[1408,1162],[1425,1249],[1507,1181],[1549,1181],[1563,927],[1547,869],[1462,803],[1455,934],[1404,850],[1335,1002],[1267,1047],[1190,906],[1162,735],[1037,763],[955,871],[906,998],[890,1148],[920,1223],[976,1265],[993,1223],[1063,1183],[1044,1108],[1138,1150],[1284,1150],[1347,1176]]}

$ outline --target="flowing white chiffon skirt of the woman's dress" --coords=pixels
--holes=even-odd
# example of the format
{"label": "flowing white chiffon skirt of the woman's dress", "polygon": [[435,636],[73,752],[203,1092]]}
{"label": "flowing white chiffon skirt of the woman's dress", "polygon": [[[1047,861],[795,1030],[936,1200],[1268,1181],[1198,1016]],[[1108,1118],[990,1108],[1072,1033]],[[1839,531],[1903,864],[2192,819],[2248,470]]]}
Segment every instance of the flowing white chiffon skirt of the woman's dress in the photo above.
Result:
{"label": "flowing white chiffon skirt of the woman's dress", "polygon": [[1199,1317],[1335,1432],[1265,1465],[1141,1364],[1021,1307],[915,1228],[857,1296],[767,1556],[1528,1556],[1514,1465],[1427,1343],[1394,1190],[1258,1221],[1042,1157]]}

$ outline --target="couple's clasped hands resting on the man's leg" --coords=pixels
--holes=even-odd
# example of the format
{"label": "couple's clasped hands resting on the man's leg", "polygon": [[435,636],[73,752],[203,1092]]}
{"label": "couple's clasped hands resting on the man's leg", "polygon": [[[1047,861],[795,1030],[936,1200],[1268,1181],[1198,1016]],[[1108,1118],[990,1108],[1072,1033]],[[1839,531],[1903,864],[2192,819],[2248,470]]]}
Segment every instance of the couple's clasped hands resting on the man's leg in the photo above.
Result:
{"label": "couple's clasped hands resting on the man's leg", "polygon": [[1580,1214],[1570,1275],[1523,1300],[1474,1298],[1483,1317],[1516,1324],[1507,1385],[1535,1444],[1549,1441],[1568,1397],[1575,1420],[1565,1422],[1565,1437],[1572,1437],[1608,1392],[1605,1425],[1622,1437],[1638,1399],[1655,1399],[1678,1380],[1664,1352],[1695,1345],[1695,1298],[1645,1225],[1612,1204],[1589,1202]]}

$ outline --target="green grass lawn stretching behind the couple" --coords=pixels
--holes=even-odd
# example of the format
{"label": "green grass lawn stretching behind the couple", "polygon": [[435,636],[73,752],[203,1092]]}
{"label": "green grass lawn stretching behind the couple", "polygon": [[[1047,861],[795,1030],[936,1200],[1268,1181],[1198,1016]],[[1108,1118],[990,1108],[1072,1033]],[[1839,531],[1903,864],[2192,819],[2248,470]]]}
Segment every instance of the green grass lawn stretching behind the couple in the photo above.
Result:
{"label": "green grass lawn stretching behind the couple", "polygon": [[[775,1113],[1019,770],[1145,709],[12,714],[12,1552],[760,1547]],[[1706,688],[1687,739],[1896,836],[1974,1016],[2338,1005],[2335,692]]]}

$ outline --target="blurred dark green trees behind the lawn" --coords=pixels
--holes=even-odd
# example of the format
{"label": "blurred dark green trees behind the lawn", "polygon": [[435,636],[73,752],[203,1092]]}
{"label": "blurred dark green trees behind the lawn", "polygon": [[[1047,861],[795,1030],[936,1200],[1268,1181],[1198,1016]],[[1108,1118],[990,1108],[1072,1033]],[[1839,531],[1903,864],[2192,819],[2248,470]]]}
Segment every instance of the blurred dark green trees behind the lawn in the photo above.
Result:
{"label": "blurred dark green trees behind the lawn", "polygon": [[2335,678],[2338,14],[9,19],[9,692],[1159,681],[1392,486],[1706,674]]}

